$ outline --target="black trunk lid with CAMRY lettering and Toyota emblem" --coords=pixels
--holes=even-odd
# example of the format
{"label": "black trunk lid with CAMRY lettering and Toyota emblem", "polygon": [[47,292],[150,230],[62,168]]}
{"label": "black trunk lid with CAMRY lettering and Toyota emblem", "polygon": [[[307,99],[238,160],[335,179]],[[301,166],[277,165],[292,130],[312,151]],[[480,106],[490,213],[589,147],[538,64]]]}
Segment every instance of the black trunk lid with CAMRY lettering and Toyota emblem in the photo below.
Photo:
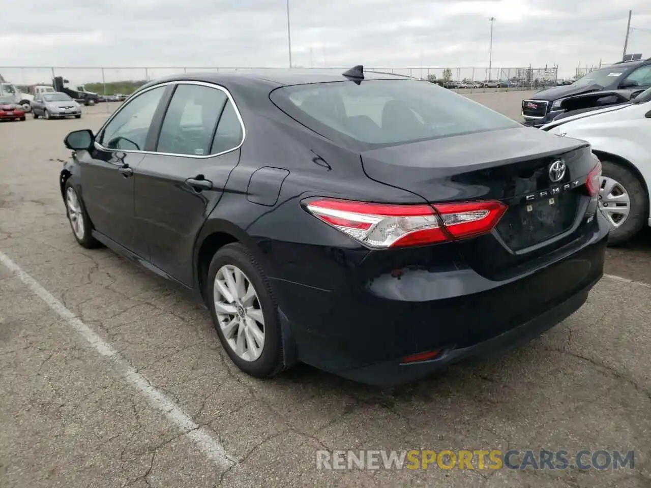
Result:
{"label": "black trunk lid with CAMRY lettering and Toyota emblem", "polygon": [[[596,163],[587,142],[533,128],[401,144],[363,152],[361,159],[373,180],[431,204],[505,203],[508,210],[491,234],[457,241],[464,260],[495,279],[577,237],[592,200],[585,180]],[[559,160],[566,170],[554,181],[550,167]]]}

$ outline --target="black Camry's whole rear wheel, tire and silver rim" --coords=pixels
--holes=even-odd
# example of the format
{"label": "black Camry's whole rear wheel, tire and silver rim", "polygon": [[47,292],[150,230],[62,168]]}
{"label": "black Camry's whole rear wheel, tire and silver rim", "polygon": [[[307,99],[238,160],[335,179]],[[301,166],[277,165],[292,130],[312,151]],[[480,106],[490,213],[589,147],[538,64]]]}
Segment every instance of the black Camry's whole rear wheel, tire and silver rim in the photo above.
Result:
{"label": "black Camry's whole rear wheel, tire and silver rim", "polygon": [[243,372],[268,378],[283,369],[277,305],[253,254],[240,243],[225,245],[208,268],[206,297],[217,335]]}

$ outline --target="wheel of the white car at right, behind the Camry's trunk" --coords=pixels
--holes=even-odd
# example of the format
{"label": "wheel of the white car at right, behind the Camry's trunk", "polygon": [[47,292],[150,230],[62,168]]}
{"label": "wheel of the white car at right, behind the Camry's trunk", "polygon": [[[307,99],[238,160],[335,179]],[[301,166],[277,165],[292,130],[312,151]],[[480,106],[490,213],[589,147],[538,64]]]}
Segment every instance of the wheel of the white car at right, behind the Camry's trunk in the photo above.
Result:
{"label": "wheel of the white car at right, behind the Camry's trunk", "polygon": [[637,175],[620,163],[602,161],[599,207],[611,232],[608,243],[621,245],[642,230],[648,197]]}

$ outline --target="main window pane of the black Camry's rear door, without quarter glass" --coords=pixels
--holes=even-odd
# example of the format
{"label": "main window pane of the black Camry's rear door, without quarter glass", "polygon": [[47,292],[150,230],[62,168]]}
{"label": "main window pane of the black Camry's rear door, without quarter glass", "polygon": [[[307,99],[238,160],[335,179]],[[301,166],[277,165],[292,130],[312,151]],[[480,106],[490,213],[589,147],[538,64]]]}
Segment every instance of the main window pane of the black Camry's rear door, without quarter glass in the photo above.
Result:
{"label": "main window pane of the black Camry's rear door, without quarter glass", "polygon": [[228,101],[225,92],[217,88],[178,85],[165,113],[156,151],[191,156],[214,154],[211,146],[217,120]]}

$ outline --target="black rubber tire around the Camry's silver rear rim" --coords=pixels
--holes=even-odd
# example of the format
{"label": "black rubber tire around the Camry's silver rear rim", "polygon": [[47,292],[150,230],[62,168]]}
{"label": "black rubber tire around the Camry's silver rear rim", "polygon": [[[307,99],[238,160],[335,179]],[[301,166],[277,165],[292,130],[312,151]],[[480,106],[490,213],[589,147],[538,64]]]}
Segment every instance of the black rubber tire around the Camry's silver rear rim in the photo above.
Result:
{"label": "black rubber tire around the Camry's silver rear rim", "polygon": [[[217,273],[219,276],[223,276],[224,271],[241,271],[245,278],[249,281],[249,286],[253,286],[255,290],[255,297],[253,297],[249,303],[251,306],[248,306],[249,303],[245,303],[242,300],[243,293],[239,293],[240,297],[236,299],[237,304],[242,304],[243,306],[234,305],[232,310],[234,313],[228,315],[233,316],[232,320],[236,318],[238,320],[242,319],[244,323],[251,324],[253,320],[253,326],[257,327],[254,329],[252,325],[248,325],[249,329],[247,331],[253,331],[259,333],[262,331],[264,334],[264,344],[262,345],[262,351],[256,356],[250,351],[245,353],[248,357],[243,357],[238,355],[234,349],[237,339],[234,338],[235,332],[237,332],[238,338],[242,334],[243,329],[236,325],[237,329],[232,329],[232,332],[227,338],[226,333],[229,333],[228,329],[223,329],[220,319],[223,323],[229,323],[225,319],[224,313],[220,313],[219,316],[215,310],[215,297],[223,299],[225,295],[221,295],[217,291],[215,295],[215,278]],[[223,281],[223,280],[220,280]],[[218,288],[219,290],[219,288]],[[277,373],[283,370],[283,341],[281,339],[281,327],[278,318],[278,310],[275,298],[273,297],[273,292],[271,291],[271,286],[269,280],[262,269],[262,266],[255,259],[253,254],[240,243],[232,243],[225,245],[213,256],[210,267],[208,268],[208,277],[205,284],[206,300],[208,302],[208,308],[210,309],[210,314],[212,315],[213,324],[221,345],[224,347],[226,353],[229,355],[230,360],[242,371],[256,378],[269,378],[275,376]],[[223,299],[224,303],[233,303],[229,299]],[[256,312],[256,316],[262,316],[264,325],[260,327],[260,322],[255,319],[247,316],[246,310],[252,309],[252,312]],[[261,314],[260,314],[261,310]],[[221,312],[225,312],[225,309],[222,308]],[[253,315],[253,314],[252,314]],[[249,334],[242,334],[242,338],[251,338],[253,332]],[[231,342],[233,346],[231,345]],[[256,342],[254,340],[254,342]],[[259,344],[256,344],[259,345]],[[255,349],[255,348],[253,348]]]}

